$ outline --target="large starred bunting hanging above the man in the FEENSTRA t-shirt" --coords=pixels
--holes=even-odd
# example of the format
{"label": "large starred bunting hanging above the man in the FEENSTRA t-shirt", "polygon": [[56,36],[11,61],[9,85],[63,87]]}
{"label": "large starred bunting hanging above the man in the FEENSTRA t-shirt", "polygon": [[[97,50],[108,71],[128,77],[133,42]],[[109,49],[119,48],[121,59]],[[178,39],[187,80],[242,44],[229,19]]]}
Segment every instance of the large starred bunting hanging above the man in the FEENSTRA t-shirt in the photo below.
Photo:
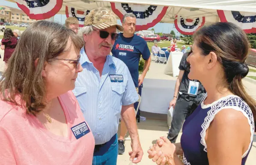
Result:
{"label": "large starred bunting hanging above the man in the FEENSTRA t-shirt", "polygon": [[112,11],[120,18],[121,22],[126,13],[136,16],[135,30],[146,30],[154,27],[164,17],[168,6],[137,5],[130,3],[110,2]]}

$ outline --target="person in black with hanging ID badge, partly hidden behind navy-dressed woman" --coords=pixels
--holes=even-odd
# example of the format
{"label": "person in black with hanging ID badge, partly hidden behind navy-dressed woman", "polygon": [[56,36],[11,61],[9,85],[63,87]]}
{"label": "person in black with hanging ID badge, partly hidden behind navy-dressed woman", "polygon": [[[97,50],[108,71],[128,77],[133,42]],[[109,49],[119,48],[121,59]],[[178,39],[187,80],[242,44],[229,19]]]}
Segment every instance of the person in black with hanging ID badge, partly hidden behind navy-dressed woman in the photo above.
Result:
{"label": "person in black with hanging ID badge, partly hidden behind navy-dressed woman", "polygon": [[182,129],[183,122],[193,112],[202,100],[205,89],[199,81],[190,80],[190,72],[187,62],[188,53],[184,53],[179,65],[179,76],[176,80],[173,100],[170,107],[173,107],[173,120],[167,138],[175,143]]}

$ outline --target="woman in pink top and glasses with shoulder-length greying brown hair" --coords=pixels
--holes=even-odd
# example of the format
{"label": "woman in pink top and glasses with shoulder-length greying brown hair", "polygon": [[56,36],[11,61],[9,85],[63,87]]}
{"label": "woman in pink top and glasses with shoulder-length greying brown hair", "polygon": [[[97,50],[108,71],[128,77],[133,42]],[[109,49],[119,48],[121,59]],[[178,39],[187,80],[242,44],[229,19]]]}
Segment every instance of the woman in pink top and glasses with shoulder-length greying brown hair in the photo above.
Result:
{"label": "woman in pink top and glasses with shoulder-length greying brown hair", "polygon": [[95,141],[71,91],[82,47],[54,22],[22,33],[0,79],[1,165],[92,165]]}

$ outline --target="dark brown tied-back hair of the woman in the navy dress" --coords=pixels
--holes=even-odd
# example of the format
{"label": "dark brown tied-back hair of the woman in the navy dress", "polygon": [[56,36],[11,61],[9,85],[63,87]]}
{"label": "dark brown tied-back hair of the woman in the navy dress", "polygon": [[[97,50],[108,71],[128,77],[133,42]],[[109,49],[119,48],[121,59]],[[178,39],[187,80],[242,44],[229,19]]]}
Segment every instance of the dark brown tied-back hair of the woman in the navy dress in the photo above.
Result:
{"label": "dark brown tied-back hair of the woman in the navy dress", "polygon": [[256,119],[256,101],[244,89],[242,78],[249,72],[245,64],[250,44],[245,32],[235,24],[214,23],[200,28],[194,34],[194,41],[203,55],[214,52],[223,66],[223,84],[235,95],[241,97],[253,112]]}

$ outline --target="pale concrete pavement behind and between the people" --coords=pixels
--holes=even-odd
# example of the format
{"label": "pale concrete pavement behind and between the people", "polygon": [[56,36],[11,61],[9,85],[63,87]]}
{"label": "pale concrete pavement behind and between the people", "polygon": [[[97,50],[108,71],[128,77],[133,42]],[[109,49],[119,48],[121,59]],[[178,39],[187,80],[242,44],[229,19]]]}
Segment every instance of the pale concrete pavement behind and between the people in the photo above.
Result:
{"label": "pale concrete pavement behind and between the people", "polygon": [[[0,59],[0,72],[4,69],[4,62],[3,62],[3,50],[0,50],[0,54],[2,56],[2,59]],[[164,68],[166,65],[163,64],[157,64],[157,63],[151,63],[149,72],[146,75],[146,78],[154,78],[154,79],[165,79],[165,80],[176,80],[177,77],[171,77],[170,75],[164,74]],[[255,80],[256,82],[256,80]],[[245,87],[247,88],[248,93],[256,98],[256,83],[243,80],[243,83]],[[143,113],[143,112],[142,112]],[[142,114],[142,116],[145,116],[147,119],[146,121],[141,121],[138,123],[138,132],[140,136],[140,142],[143,148],[144,156],[143,159],[138,165],[155,165],[154,162],[152,162],[151,159],[148,158],[147,150],[149,147],[155,143],[156,139],[158,139],[160,136],[167,136],[168,133],[168,127],[167,127],[167,121],[166,116],[160,115],[160,114],[153,114],[154,118],[158,120],[149,120],[149,115],[146,115],[146,113]],[[182,133],[179,133],[179,137],[177,139],[177,142],[180,141]],[[127,135],[128,137],[128,135]],[[256,162],[256,137],[254,138],[253,146],[250,151],[249,157],[247,159],[246,165],[255,165]],[[117,165],[128,165],[129,164],[129,155],[128,151],[131,151],[131,141],[127,140],[125,141],[125,153],[123,155],[119,155],[117,158]]]}

